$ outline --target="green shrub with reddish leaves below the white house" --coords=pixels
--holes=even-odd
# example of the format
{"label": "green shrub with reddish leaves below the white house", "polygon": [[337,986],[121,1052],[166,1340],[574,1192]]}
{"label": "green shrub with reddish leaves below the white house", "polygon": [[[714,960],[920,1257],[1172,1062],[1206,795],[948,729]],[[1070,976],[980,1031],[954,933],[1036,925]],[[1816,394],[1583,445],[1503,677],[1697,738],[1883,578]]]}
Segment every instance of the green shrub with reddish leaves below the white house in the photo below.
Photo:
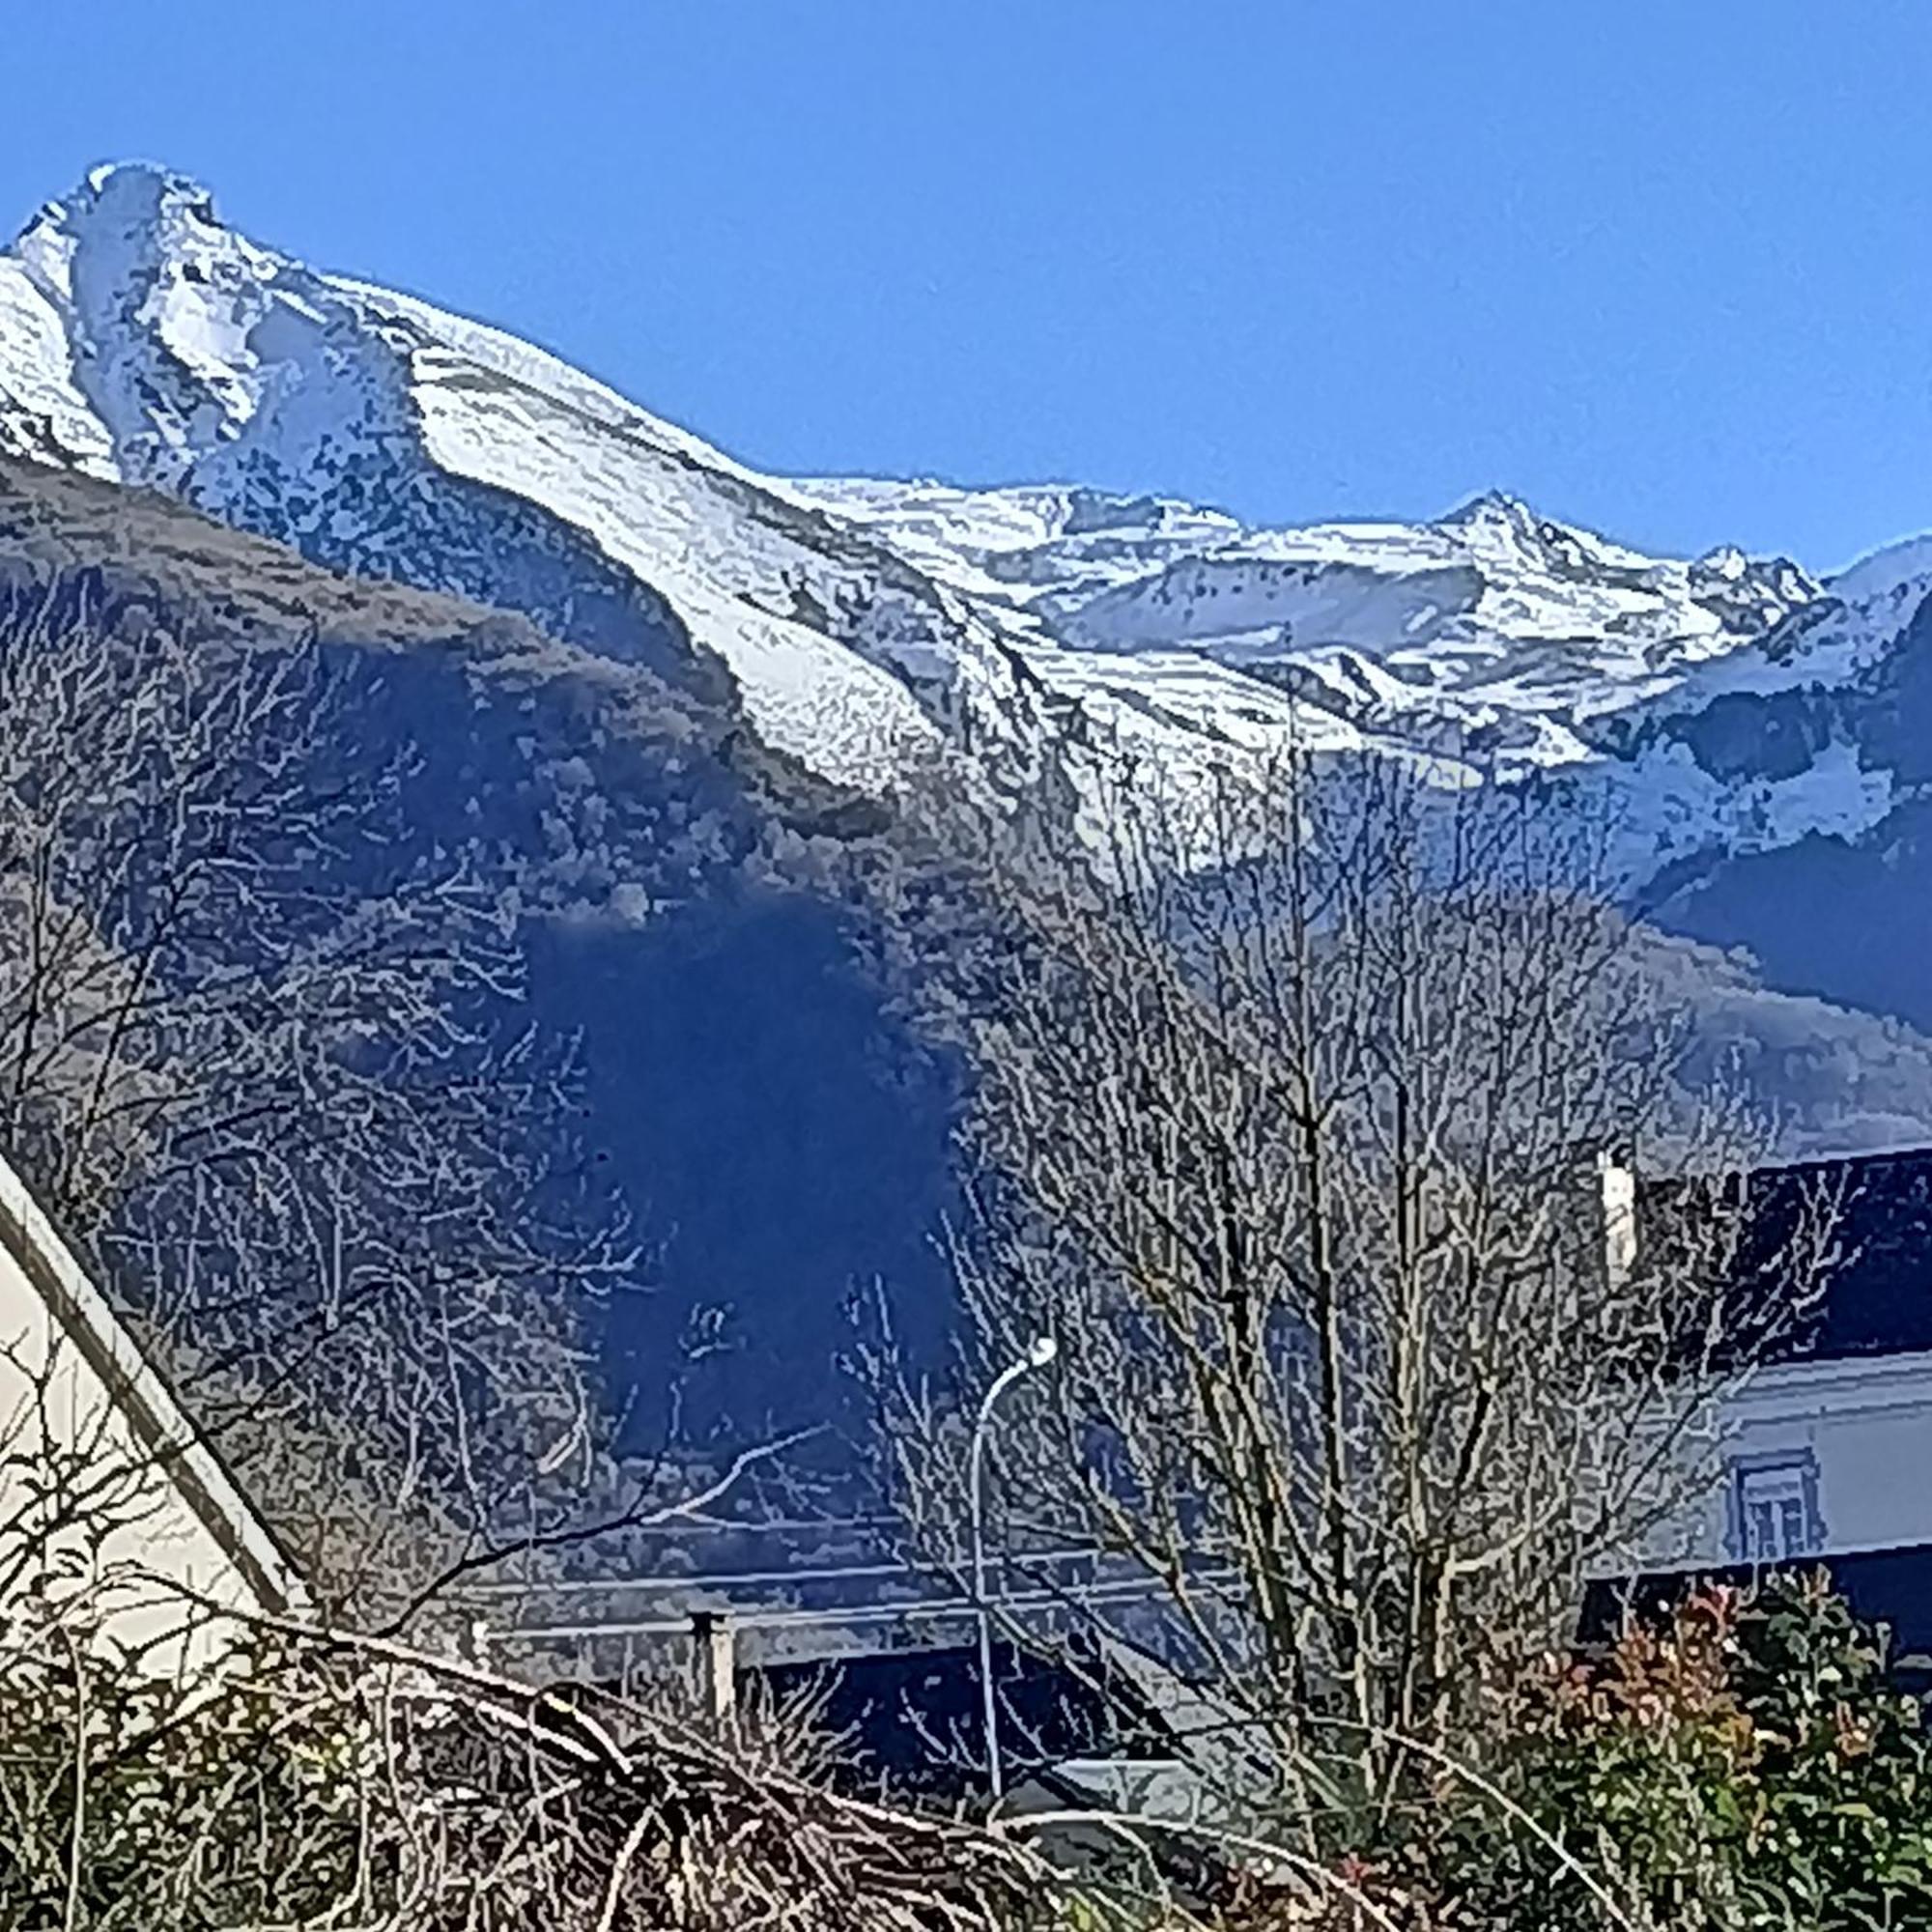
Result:
{"label": "green shrub with reddish leaves below the white house", "polygon": [[1708,1590],[1515,1700],[1493,1781],[1445,1781],[1435,1922],[1490,1932],[1932,1928],[1932,1739],[1824,1577]]}

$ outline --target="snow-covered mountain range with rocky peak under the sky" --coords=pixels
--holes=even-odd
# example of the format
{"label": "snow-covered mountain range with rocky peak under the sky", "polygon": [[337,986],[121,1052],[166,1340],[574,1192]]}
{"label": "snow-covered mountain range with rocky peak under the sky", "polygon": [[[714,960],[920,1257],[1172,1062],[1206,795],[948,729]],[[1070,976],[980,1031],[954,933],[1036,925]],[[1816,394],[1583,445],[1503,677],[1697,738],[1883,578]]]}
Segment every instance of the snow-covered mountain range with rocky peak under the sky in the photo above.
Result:
{"label": "snow-covered mountain range with rocky peak under the sky", "polygon": [[[887,790],[947,736],[1009,782],[1086,730],[1182,773],[1293,736],[1445,784],[1607,790],[1636,879],[1884,821],[1901,781],[1859,694],[1932,589],[1926,543],[1820,583],[1642,556],[1501,495],[1250,529],[1080,487],[757,475],[147,166],[97,170],[0,255],[0,452],[711,680],[840,786]],[[1801,759],[1727,750],[1799,692],[1837,694]]]}

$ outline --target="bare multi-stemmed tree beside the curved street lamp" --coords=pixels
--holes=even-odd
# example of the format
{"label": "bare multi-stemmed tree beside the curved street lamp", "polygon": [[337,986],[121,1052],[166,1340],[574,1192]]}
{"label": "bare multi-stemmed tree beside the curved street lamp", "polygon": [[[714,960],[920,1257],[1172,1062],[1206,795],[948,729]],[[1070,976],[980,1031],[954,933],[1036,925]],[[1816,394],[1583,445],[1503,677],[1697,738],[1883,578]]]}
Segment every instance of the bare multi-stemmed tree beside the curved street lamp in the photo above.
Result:
{"label": "bare multi-stemmed tree beside the curved street lamp", "polygon": [[[893,881],[972,1088],[958,1374],[869,1358],[896,1495],[964,1573],[974,1397],[1053,1335],[995,1432],[1001,1540],[1155,1592],[1140,1640],[1250,1801],[1387,1816],[1708,1480],[1758,1142],[1679,1078],[1594,829],[1298,752],[1101,771],[1078,821],[937,813],[958,893]],[[1667,1240],[1613,1240],[1611,1150],[1692,1177]]]}

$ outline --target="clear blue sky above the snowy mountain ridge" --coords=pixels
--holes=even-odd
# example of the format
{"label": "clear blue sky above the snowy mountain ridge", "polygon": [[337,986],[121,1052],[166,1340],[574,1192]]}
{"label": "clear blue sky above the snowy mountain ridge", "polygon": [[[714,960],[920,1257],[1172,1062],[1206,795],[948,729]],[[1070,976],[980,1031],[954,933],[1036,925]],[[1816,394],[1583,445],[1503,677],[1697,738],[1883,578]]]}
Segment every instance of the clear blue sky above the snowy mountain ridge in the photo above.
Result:
{"label": "clear blue sky above the snowy mountain ridge", "polygon": [[1932,526],[1924,0],[0,0],[102,158],[753,464],[1258,520]]}

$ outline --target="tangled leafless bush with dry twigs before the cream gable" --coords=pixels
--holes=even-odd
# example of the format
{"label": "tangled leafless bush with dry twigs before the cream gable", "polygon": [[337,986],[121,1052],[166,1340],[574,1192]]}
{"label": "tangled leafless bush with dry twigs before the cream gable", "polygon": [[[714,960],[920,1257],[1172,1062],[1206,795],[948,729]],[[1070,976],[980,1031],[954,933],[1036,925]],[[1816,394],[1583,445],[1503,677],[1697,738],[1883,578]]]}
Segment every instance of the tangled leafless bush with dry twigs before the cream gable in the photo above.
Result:
{"label": "tangled leafless bush with dry twigs before the cream gable", "polygon": [[[37,1383],[54,1395],[58,1366]],[[730,1739],[197,1592],[143,1563],[164,1457],[31,1441],[0,1528],[0,1922],[60,1932],[970,1932],[1041,1922],[1051,1874],[844,1803],[800,1714]],[[29,1445],[15,1430],[8,1449]],[[112,1472],[112,1480],[110,1478]],[[178,1524],[176,1524],[178,1528]]]}

